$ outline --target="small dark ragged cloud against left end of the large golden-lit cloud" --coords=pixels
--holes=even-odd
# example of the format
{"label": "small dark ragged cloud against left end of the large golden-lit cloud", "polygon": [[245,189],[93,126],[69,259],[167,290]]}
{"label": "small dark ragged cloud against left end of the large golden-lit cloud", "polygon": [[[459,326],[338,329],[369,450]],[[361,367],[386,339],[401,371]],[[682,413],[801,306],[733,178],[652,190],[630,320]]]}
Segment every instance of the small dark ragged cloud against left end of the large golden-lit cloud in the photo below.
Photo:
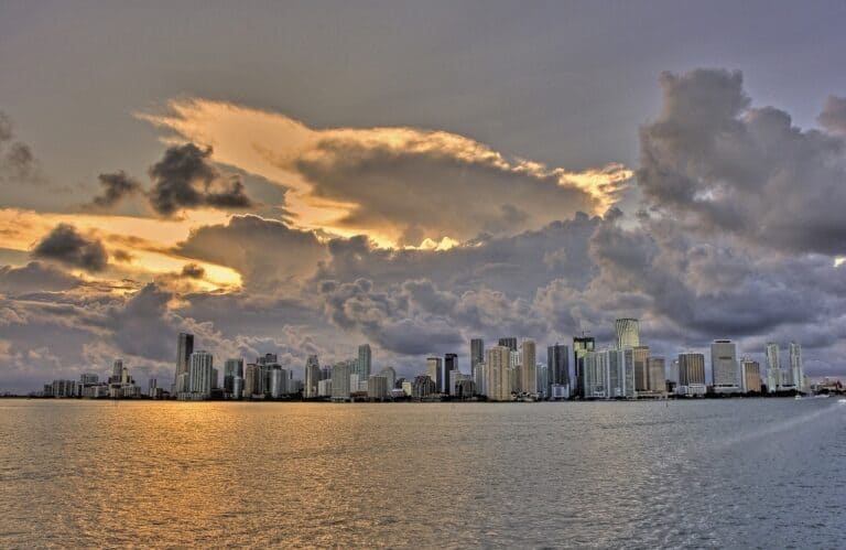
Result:
{"label": "small dark ragged cloud against left end of the large golden-lit cloud", "polygon": [[212,149],[194,143],[174,145],[150,168],[153,186],[150,204],[156,213],[172,216],[180,208],[213,206],[247,208],[252,201],[236,174],[223,174],[210,161]]}

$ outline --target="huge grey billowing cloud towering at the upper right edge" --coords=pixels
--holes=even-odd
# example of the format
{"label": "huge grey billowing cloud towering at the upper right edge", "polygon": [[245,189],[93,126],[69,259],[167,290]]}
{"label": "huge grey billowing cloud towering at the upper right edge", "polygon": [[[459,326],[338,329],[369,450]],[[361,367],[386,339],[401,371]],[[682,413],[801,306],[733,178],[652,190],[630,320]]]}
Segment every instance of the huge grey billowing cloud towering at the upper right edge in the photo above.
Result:
{"label": "huge grey billowing cloud towering at the upper right edge", "polygon": [[[637,172],[653,209],[762,247],[846,251],[842,137],[801,130],[772,107],[751,107],[739,72],[664,73],[661,85],[663,109],[641,129]],[[835,114],[826,120],[836,123]]]}

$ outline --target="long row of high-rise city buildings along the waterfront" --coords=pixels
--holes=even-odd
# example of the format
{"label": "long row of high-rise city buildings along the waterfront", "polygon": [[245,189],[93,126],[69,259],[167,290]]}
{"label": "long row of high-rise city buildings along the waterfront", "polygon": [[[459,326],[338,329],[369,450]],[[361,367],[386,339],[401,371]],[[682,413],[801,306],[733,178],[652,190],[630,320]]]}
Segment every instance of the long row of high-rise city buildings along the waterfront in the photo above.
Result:
{"label": "long row of high-rise city buildings along the waterfront", "polygon": [[470,368],[458,368],[458,355],[430,356],[424,370],[412,378],[398,377],[393,367],[372,371],[369,344],[358,346],[356,357],[332,366],[321,366],[316,355],[305,362],[303,377],[267,354],[245,364],[243,358],[224,362],[224,377],[214,356],[194,349],[194,336],[181,333],[176,343],[176,366],[170,390],[150,379],[142,393],[118,359],[108,381],[97,375],[83,375],[79,381],[54,380],[44,386],[44,396],[87,398],[175,398],[207,399],[315,399],[350,400],[440,400],[485,399],[488,401],[538,401],[566,399],[655,399],[668,396],[697,397],[713,393],[804,392],[807,380],[802,365],[802,348],[788,347],[787,362],[778,344],[766,349],[766,373],[758,362],[738,357],[737,344],[716,339],[711,344],[711,384],[706,381],[705,354],[681,353],[666,362],[652,355],[640,339],[637,319],[615,322],[615,341],[597,348],[593,337],[573,338],[572,349],[555,343],[546,347],[546,362],[538,360],[538,346],[531,338],[499,338],[486,348],[481,338],[470,341]]}

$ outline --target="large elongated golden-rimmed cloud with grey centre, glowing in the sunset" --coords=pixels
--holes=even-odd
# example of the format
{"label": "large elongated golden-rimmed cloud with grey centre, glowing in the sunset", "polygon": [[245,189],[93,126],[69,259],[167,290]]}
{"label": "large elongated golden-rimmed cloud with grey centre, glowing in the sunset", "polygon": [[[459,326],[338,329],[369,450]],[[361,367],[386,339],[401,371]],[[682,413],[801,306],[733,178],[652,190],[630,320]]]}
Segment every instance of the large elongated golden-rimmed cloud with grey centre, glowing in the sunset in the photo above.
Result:
{"label": "large elongated golden-rimmed cloud with grey centre, glowing in the sunset", "polygon": [[[382,246],[482,233],[514,235],[576,212],[604,213],[631,172],[584,172],[509,159],[470,138],[408,127],[322,129],[284,115],[202,99],[142,116],[215,148],[215,160],[289,188],[294,223]],[[249,128],[249,139],[243,139]]]}

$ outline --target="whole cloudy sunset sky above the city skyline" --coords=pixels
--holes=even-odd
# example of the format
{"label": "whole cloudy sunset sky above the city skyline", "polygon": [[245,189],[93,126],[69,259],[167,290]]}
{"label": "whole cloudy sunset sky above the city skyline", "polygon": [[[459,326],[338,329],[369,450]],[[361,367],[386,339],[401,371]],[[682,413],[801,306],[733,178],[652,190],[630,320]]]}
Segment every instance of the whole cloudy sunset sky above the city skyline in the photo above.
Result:
{"label": "whole cloudy sunset sky above the city skyline", "polygon": [[0,1],[0,391],[641,320],[846,376],[846,3]]}

